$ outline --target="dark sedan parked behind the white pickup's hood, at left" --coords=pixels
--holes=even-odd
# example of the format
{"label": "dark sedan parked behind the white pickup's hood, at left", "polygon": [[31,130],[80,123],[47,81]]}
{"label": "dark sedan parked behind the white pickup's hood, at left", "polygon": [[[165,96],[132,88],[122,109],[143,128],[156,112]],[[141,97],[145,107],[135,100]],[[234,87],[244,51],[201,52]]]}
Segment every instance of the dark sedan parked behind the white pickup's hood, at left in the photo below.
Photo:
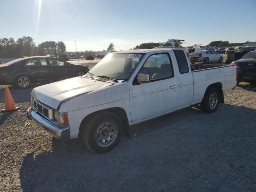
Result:
{"label": "dark sedan parked behind the white pickup's hood, at left", "polygon": [[88,66],[70,64],[54,57],[26,57],[0,65],[0,85],[28,88],[32,83],[82,76],[88,71]]}

